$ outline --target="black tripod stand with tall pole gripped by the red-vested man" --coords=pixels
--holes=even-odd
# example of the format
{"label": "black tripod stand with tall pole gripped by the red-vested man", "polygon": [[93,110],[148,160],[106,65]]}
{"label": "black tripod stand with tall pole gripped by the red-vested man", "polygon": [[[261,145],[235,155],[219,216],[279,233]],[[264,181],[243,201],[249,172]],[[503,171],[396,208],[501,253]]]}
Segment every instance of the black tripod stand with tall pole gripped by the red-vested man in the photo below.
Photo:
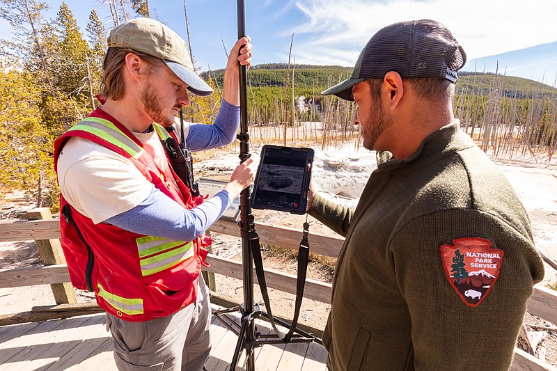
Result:
{"label": "black tripod stand with tall pole gripped by the red-vested man", "polygon": [[[237,0],[237,18],[238,18],[238,38],[244,37],[246,35],[246,23],[245,23],[245,4],[244,0]],[[248,116],[247,116],[247,68],[245,65],[240,65],[240,134],[238,134],[238,139],[240,140],[240,162],[244,162],[249,159],[251,154],[249,153],[249,132],[248,132]],[[233,331],[238,336],[238,341],[236,343],[236,348],[232,361],[230,362],[230,371],[235,370],[238,358],[242,349],[246,350],[246,370],[255,371],[255,356],[254,349],[260,347],[263,344],[278,344],[285,342],[321,342],[319,338],[315,338],[309,333],[297,329],[296,321],[297,314],[295,314],[295,320],[292,324],[288,324],[279,319],[272,317],[270,306],[267,307],[267,313],[260,309],[258,303],[253,301],[253,256],[256,255],[256,259],[260,263],[256,269],[258,269],[258,281],[261,287],[261,291],[265,290],[265,295],[267,294],[267,287],[265,285],[265,276],[262,276],[262,263],[259,248],[259,237],[255,230],[255,222],[253,215],[251,214],[251,207],[249,206],[249,199],[251,198],[251,189],[248,187],[242,191],[240,194],[240,235],[242,237],[242,267],[243,267],[243,283],[244,283],[244,304],[242,306],[237,306],[234,308],[228,308],[223,310],[217,310],[214,312],[215,317],[219,319],[230,331]],[[308,224],[304,224],[304,239],[306,248],[304,249],[304,239],[302,239],[302,244],[300,247],[300,255],[304,253],[307,260],[307,254],[309,253],[309,245],[307,244],[308,235]],[[305,281],[305,271],[304,271],[304,281]],[[300,280],[299,280],[300,281]],[[298,285],[303,291],[304,282],[299,282]],[[301,301],[301,297],[298,297],[297,301]],[[268,298],[265,299],[268,302]],[[297,312],[299,311],[299,304],[297,305]],[[233,319],[227,316],[228,313],[240,312],[242,315],[242,323],[237,324]],[[258,333],[256,329],[255,319],[263,316],[271,322],[273,328],[277,333],[264,335]],[[225,321],[223,318],[228,319]],[[286,336],[278,335],[278,330],[274,325],[274,322],[281,324],[290,331]]]}

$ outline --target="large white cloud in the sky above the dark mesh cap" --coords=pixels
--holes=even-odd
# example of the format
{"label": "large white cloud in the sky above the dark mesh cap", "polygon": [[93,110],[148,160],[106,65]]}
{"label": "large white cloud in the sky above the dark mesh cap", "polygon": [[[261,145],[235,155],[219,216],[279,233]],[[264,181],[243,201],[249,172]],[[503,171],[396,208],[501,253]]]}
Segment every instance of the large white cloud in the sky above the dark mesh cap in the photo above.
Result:
{"label": "large white cloud in the sky above the dark mesh cap", "polygon": [[469,59],[557,40],[556,0],[298,0],[295,5],[306,22],[284,33],[298,35],[298,63],[353,65],[373,33],[410,19],[445,24]]}

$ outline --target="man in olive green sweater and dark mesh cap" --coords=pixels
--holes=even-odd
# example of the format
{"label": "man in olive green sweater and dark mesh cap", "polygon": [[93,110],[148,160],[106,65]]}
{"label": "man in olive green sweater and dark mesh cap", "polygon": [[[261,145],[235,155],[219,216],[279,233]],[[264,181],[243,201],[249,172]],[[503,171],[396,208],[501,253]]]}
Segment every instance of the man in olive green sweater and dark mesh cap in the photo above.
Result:
{"label": "man in olive green sweater and dark mesh cap", "polygon": [[378,167],[356,210],[311,191],[345,236],[323,342],[329,370],[507,370],[544,266],[510,184],[453,115],[464,49],[442,24],[379,30],[352,77]]}

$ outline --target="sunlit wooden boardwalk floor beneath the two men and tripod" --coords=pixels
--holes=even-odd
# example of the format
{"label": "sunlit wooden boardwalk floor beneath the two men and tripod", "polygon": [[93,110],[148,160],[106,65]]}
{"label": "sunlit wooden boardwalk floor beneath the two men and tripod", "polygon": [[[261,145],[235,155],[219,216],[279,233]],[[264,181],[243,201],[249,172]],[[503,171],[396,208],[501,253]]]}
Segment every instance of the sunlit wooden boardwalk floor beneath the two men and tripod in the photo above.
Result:
{"label": "sunlit wooden boardwalk floor beneath the two men and tripod", "polygon": [[[267,322],[256,322],[269,333]],[[228,370],[237,336],[213,317],[209,371]],[[256,370],[326,371],[327,352],[315,342],[263,345],[255,349]],[[242,354],[237,370],[243,370]],[[117,370],[104,314],[0,327],[0,370]]]}

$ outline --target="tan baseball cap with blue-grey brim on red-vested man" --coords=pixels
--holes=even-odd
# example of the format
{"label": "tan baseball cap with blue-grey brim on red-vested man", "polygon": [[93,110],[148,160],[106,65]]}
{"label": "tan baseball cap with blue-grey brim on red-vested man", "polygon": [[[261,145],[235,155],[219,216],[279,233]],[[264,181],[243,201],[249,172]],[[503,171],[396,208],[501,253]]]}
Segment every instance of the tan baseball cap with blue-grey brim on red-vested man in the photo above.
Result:
{"label": "tan baseball cap with blue-grey brim on red-vested man", "polygon": [[161,22],[150,18],[136,18],[110,31],[109,47],[136,50],[162,59],[196,95],[210,95],[213,90],[194,71],[186,42]]}

